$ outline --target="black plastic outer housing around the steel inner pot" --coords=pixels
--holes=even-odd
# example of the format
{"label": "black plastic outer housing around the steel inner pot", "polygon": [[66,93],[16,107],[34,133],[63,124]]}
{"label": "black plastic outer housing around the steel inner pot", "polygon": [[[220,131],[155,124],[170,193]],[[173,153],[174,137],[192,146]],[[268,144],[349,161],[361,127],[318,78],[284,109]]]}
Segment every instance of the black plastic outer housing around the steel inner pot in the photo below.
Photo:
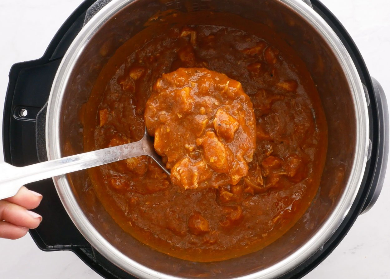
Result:
{"label": "black plastic outer housing around the steel inner pot", "polygon": [[[46,146],[44,142],[45,111],[41,109],[48,100],[61,59],[83,27],[87,9],[94,2],[95,0],[85,0],[69,16],[42,58],[12,66],[3,120],[4,157],[7,163],[25,166],[45,160],[46,156],[42,154],[45,151],[43,147]],[[359,193],[339,229],[322,249],[281,278],[303,277],[333,251],[349,231],[356,217],[371,208],[378,198],[388,157],[388,108],[383,89],[376,80],[371,79],[360,52],[341,23],[321,2],[312,0],[311,4],[342,40],[358,69],[363,85],[367,88],[372,151]],[[27,109],[27,116],[19,115],[21,109]],[[37,117],[38,113],[39,117]],[[28,184],[27,187],[44,196],[41,205],[36,210],[43,216],[43,222],[37,229],[30,230],[33,240],[40,249],[44,251],[71,250],[90,268],[105,278],[135,278],[101,256],[85,240],[67,215],[51,179],[34,182]]]}

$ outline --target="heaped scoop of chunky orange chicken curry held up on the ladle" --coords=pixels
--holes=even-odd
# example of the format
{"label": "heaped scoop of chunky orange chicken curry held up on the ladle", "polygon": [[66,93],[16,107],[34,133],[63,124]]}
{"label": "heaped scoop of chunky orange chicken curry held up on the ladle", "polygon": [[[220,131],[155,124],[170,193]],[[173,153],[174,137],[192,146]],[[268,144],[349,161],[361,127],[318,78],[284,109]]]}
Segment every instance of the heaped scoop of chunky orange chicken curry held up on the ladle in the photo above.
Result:
{"label": "heaped scoop of chunky orange chicken curry held up on the ladle", "polygon": [[252,102],[236,80],[180,68],[154,85],[145,125],[170,178],[184,189],[236,185],[256,145]]}

